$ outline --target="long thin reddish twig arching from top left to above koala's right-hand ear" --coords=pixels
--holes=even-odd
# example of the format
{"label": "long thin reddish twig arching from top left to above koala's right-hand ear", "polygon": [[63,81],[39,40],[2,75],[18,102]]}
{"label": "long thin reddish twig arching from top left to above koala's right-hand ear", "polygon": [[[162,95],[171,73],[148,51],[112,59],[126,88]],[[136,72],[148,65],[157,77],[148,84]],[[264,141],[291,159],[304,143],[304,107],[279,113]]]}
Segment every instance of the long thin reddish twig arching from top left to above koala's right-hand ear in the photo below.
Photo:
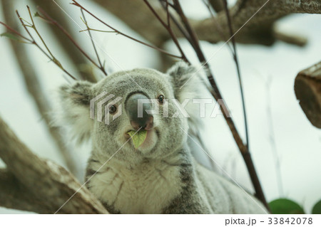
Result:
{"label": "long thin reddish twig arching from top left to above koala's right-hand ear", "polygon": [[81,6],[81,4],[78,4],[77,1],[75,1],[75,0],[72,0],[72,1],[73,1],[73,3],[71,3],[72,5],[78,6],[79,8],[83,9],[83,11],[86,11],[89,15],[93,16],[94,19],[96,19],[97,21],[103,23],[103,24],[104,24],[105,26],[107,26],[108,28],[111,28],[113,31],[115,31],[115,32],[118,33],[119,35],[125,36],[126,38],[129,38],[129,39],[131,39],[131,40],[133,40],[133,41],[136,41],[137,43],[141,43],[141,44],[143,44],[144,46],[148,46],[148,47],[150,47],[150,48],[153,48],[153,49],[155,49],[156,51],[159,51],[159,52],[161,52],[161,53],[165,53],[165,54],[167,54],[168,56],[171,56],[171,57],[173,57],[173,58],[180,58],[180,59],[182,59],[181,56],[176,56],[176,55],[174,55],[173,53],[169,53],[168,51],[165,51],[165,50],[163,50],[163,49],[161,49],[161,48],[158,48],[157,46],[153,46],[153,45],[151,45],[151,44],[148,44],[148,43],[145,43],[145,42],[143,42],[143,41],[140,41],[140,40],[138,40],[137,38],[133,38],[133,37],[131,37],[131,36],[126,35],[125,33],[119,31],[119,30],[116,29],[116,28],[113,28],[113,27],[110,26],[108,23],[106,23],[106,22],[102,21],[101,19],[99,19],[97,16],[95,16],[95,15],[92,14],[90,11],[88,11],[86,8],[84,8],[83,6]]}

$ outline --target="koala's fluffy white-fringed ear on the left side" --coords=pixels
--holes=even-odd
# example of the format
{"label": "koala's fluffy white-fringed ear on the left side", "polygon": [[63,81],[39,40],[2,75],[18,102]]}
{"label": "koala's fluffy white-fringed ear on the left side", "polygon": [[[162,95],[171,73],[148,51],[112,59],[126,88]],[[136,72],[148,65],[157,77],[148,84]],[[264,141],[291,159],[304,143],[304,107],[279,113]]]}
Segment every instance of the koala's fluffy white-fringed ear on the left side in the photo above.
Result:
{"label": "koala's fluffy white-fringed ear on the left side", "polygon": [[79,81],[63,85],[59,89],[61,110],[58,125],[70,126],[71,137],[83,142],[91,137],[93,120],[90,118],[90,100],[93,97],[93,83]]}

